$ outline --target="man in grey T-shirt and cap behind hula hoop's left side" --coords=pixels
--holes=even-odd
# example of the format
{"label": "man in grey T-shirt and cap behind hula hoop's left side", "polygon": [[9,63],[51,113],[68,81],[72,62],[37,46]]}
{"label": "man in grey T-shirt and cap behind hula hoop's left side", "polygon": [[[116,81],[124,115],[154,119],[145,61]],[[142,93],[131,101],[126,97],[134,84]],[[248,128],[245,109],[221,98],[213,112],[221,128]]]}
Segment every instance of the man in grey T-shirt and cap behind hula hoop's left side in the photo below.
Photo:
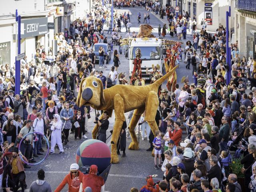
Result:
{"label": "man in grey T-shirt and cap behind hula hoop's left side", "polygon": [[[23,138],[26,134],[33,132],[33,127],[32,127],[32,120],[28,120],[26,126],[24,126],[19,133],[19,138]],[[20,151],[22,152],[22,154],[24,154],[24,156],[26,157],[26,159],[29,159],[30,156],[30,150],[31,147],[33,147],[33,137],[32,134],[29,134],[28,136],[26,136],[26,139],[23,140],[23,143],[20,143]],[[24,165],[25,168],[31,168],[30,166],[28,166],[27,164]]]}

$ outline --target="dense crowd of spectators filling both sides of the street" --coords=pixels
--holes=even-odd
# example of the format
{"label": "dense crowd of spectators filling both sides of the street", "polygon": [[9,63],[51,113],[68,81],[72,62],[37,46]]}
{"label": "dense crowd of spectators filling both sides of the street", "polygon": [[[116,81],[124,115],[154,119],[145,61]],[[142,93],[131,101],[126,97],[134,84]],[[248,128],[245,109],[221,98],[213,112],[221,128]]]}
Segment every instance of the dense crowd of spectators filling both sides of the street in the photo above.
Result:
{"label": "dense crowd of spectators filling both sides of the street", "polygon": [[[4,191],[17,191],[21,187],[23,192],[27,188],[25,169],[30,166],[24,161],[33,164],[39,161],[38,156],[46,155],[44,136],[50,140],[51,155],[56,148],[59,154],[63,154],[63,145],[71,138],[87,138],[91,108],[79,107],[75,97],[83,78],[94,75],[102,80],[104,88],[108,88],[108,78],[110,86],[115,86],[117,80],[120,84],[128,84],[124,74],[119,77],[117,72],[120,64],[118,50],[122,54],[122,37],[118,32],[121,32],[123,23],[128,36],[136,37],[135,32],[130,33],[130,13],[119,14],[116,11],[112,28],[111,5],[102,6],[101,1],[96,2],[98,4],[84,19],[72,22],[68,36],[62,32],[56,34],[56,56],[51,51],[46,53],[41,46],[32,61],[26,57],[21,60],[20,94],[14,95],[14,68],[10,68],[10,64],[1,66],[0,185]],[[184,11],[176,18],[171,6],[161,8],[159,2],[151,1],[114,1],[114,4],[118,8],[145,6],[147,11],[160,14],[161,18],[166,16],[169,25],[158,27],[159,36],[165,37],[169,32],[171,37],[176,35],[178,39],[182,36],[186,39],[187,30],[191,30],[193,38],[193,42],[187,41],[184,48],[178,48],[175,55],[177,63],[183,58],[187,69],[192,65],[193,83],[184,78],[184,84],[176,84],[174,92],[169,94],[166,89],[160,90],[156,113],[158,131],[152,133],[144,121],[144,114],[138,124],[137,134],[141,133],[142,140],[150,142],[147,151],[153,151],[154,168],[163,174],[163,179],[157,183],[154,183],[154,177],[148,176],[140,191],[256,191],[256,61],[252,58],[247,61],[240,55],[238,45],[232,44],[229,68],[226,64],[226,29],[223,26],[216,29],[215,34],[208,34],[207,22],[202,20],[202,29],[197,32],[196,18],[190,18]],[[138,22],[140,17],[138,14]],[[147,13],[144,14],[144,23],[150,23]],[[113,39],[119,40],[119,49],[114,50],[114,66],[108,76],[104,76],[101,70],[95,70],[97,60],[92,49],[98,42],[108,43],[103,36],[104,25],[108,26]],[[167,47],[167,59],[174,56],[171,49],[171,46]],[[105,68],[103,47],[98,52],[100,68]],[[231,80],[227,82],[230,71]],[[137,74],[136,78],[140,79],[139,76]],[[134,84],[135,81],[132,82]],[[132,113],[129,113],[128,124]],[[98,139],[103,142],[106,142],[109,125],[107,119],[108,113],[104,112],[102,120],[96,117],[94,121],[102,126]],[[129,138],[129,131],[125,132],[125,128],[121,134]],[[38,134],[29,134],[34,131]],[[119,150],[125,157],[125,137],[119,142]],[[231,169],[235,159],[239,159],[241,170]],[[84,175],[77,164],[72,164],[70,173],[56,191],[61,191],[68,184],[69,191],[78,192],[80,183],[85,191],[104,191],[104,181],[96,176],[97,172],[97,166],[91,166],[89,174]],[[238,173],[244,175],[244,182],[238,183]],[[44,177],[44,170],[39,170],[38,180],[31,184],[30,191],[42,188],[42,191],[51,191]]]}

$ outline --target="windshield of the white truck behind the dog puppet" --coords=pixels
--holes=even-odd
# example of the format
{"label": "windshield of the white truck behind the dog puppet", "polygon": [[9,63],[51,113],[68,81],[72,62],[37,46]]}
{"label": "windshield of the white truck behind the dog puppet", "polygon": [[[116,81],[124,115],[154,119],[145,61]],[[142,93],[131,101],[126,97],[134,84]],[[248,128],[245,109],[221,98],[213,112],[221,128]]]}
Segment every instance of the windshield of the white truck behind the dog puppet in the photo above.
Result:
{"label": "windshield of the white truck behind the dog puppet", "polygon": [[135,59],[135,50],[140,48],[141,59],[143,60],[160,60],[160,47],[133,47],[130,59]]}

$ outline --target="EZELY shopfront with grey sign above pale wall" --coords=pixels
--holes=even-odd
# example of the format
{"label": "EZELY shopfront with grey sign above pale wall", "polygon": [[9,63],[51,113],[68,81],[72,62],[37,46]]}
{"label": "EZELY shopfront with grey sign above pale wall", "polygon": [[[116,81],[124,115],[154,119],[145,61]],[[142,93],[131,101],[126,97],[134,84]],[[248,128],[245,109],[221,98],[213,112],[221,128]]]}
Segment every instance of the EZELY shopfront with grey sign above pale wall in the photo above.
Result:
{"label": "EZELY shopfront with grey sign above pale wall", "polygon": [[[28,60],[32,60],[37,48],[47,46],[45,34],[48,32],[48,18],[31,18],[21,20],[21,52],[25,52]],[[46,37],[47,38],[47,37]],[[47,38],[48,39],[48,38]]]}

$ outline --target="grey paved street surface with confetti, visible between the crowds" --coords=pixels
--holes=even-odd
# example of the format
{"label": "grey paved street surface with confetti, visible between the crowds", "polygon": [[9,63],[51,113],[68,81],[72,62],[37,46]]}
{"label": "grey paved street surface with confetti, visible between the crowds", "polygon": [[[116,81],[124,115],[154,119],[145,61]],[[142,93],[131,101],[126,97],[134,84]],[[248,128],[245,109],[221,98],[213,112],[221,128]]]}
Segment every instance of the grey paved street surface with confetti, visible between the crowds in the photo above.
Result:
{"label": "grey paved street surface with confetti, visible between the crowds", "polygon": [[[142,14],[142,23],[143,24],[143,14],[145,12],[145,9],[143,8],[124,8],[119,9],[118,12],[122,13],[126,11],[126,13],[129,11],[131,14],[131,22],[132,27],[131,31],[138,32],[138,21],[137,21],[137,13],[140,12]],[[160,20],[159,17],[154,16],[154,14],[150,13],[150,25],[154,27],[154,34],[158,36],[158,24],[161,24],[163,26],[164,21]],[[106,27],[105,27],[106,28]],[[107,28],[106,28],[107,29]],[[122,36],[125,36],[125,28],[122,29]],[[106,35],[106,32],[104,32],[104,35]],[[108,41],[110,41],[111,37],[110,35],[107,35]],[[184,40],[183,42],[190,40],[190,34],[188,34],[188,38]],[[166,38],[170,38],[170,35],[167,34]],[[177,40],[176,37],[172,38],[172,40]],[[114,49],[117,49],[118,47],[114,47]],[[182,45],[182,48],[184,48],[184,44]],[[111,66],[113,65],[112,62],[113,56],[111,58],[110,64],[108,64],[108,68],[104,70],[104,75],[108,76],[108,73],[110,71]],[[121,65],[118,68],[118,72],[125,72],[128,74],[129,70],[129,64],[128,60],[124,57],[124,51],[123,54],[120,55],[120,62]],[[152,63],[153,64],[153,63]],[[99,70],[98,64],[96,65],[96,69]],[[187,76],[192,82],[192,70],[187,70],[185,68],[184,62],[180,61],[180,68],[176,70],[177,76],[178,76],[178,83],[180,83],[180,79],[182,76]],[[165,85],[163,85],[163,88],[166,88]],[[93,120],[95,118],[94,110],[90,113],[92,118],[89,119],[89,132],[92,131]],[[126,114],[127,115],[127,114]],[[127,117],[127,116],[126,116]],[[109,130],[112,130],[114,124],[114,116],[110,118],[110,126],[107,132],[107,136],[110,135]],[[88,133],[88,138],[91,138],[91,134]],[[37,171],[40,168],[43,168],[44,171],[46,171],[46,178],[45,180],[50,183],[52,190],[54,190],[58,184],[62,181],[64,176],[68,173],[70,164],[75,162],[75,154],[78,146],[84,141],[84,140],[77,140],[74,141],[74,134],[70,134],[70,143],[66,146],[64,154],[53,154],[48,156],[48,158],[40,165],[32,166],[31,169],[26,170],[26,182],[28,186],[32,183],[32,181],[36,180],[37,178]],[[108,145],[110,146],[110,139],[107,140]],[[127,139],[127,147],[130,143],[130,139]],[[146,182],[145,177],[149,174],[157,174],[158,177],[157,180],[160,180],[163,176],[162,170],[155,170],[154,169],[154,159],[150,155],[150,152],[146,152],[146,149],[149,147],[149,143],[147,140],[142,141],[140,137],[140,150],[138,151],[130,151],[126,150],[126,157],[121,158],[120,157],[120,163],[119,164],[113,164],[112,168],[110,170],[110,174],[108,176],[108,180],[105,184],[105,190],[110,192],[120,192],[120,191],[128,191],[132,187],[141,188]],[[44,153],[45,154],[45,153]],[[37,158],[38,160],[38,158]],[[118,186],[118,187],[116,187]],[[67,187],[63,190],[67,191]]]}

